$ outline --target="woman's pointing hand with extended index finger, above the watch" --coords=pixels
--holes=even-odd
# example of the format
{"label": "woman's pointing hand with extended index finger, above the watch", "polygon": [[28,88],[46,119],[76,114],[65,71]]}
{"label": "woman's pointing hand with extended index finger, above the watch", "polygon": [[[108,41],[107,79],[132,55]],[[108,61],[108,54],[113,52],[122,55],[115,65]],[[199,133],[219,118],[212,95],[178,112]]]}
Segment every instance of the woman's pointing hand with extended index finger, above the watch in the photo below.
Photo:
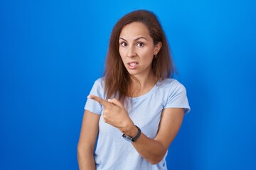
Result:
{"label": "woman's pointing hand with extended index finger, above the watch", "polygon": [[129,118],[123,104],[116,98],[108,99],[107,101],[94,95],[90,95],[88,98],[97,101],[103,106],[103,119],[105,123],[118,128],[123,133],[129,132],[129,130],[134,128],[134,123]]}

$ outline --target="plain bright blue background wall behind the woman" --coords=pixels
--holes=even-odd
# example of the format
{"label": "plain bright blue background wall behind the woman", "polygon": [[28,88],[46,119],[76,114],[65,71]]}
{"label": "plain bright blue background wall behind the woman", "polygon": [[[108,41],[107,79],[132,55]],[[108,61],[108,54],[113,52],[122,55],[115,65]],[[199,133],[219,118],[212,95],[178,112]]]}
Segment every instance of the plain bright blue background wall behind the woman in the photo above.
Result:
{"label": "plain bright blue background wall behind the woman", "polygon": [[159,16],[192,109],[169,169],[256,169],[255,0],[1,0],[0,169],[78,169],[112,27],[140,8]]}

